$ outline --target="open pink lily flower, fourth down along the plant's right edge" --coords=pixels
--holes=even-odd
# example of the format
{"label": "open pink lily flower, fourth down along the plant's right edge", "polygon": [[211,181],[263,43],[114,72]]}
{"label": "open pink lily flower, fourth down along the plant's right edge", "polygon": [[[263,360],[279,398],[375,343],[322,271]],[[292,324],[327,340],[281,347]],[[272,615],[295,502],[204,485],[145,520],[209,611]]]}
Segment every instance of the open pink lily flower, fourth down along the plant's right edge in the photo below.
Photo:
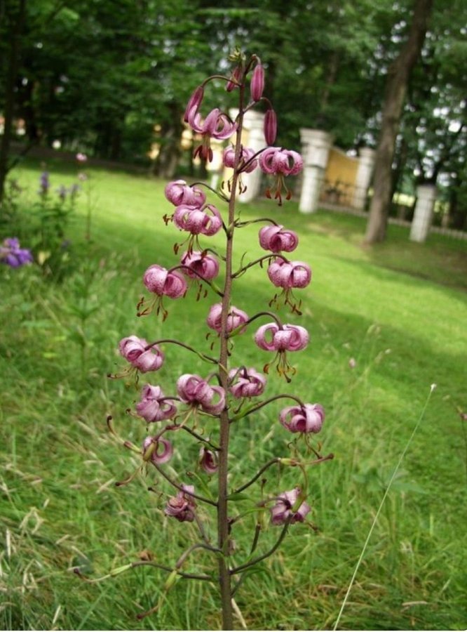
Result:
{"label": "open pink lily flower, fourth down along the plant's right edge", "polygon": [[[266,336],[271,334],[271,340]],[[287,351],[300,351],[306,348],[309,343],[309,334],[304,327],[299,325],[285,324],[279,327],[276,322],[259,327],[255,334],[255,343],[260,349],[266,351],[276,351],[276,356],[272,362],[264,365],[264,372],[269,371],[271,364],[277,360],[276,369],[279,375],[283,375],[287,382],[290,382],[289,374],[294,375],[295,369],[287,362]]]}

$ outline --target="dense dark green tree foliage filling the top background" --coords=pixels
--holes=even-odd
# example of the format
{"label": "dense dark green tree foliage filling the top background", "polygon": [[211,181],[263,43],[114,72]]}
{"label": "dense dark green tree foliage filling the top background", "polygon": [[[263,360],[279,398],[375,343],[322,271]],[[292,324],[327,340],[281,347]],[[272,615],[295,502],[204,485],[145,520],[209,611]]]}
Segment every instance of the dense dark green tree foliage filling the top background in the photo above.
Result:
{"label": "dense dark green tree foliage filling the top background", "polygon": [[[21,4],[11,84],[12,25]],[[332,133],[345,149],[374,147],[388,69],[407,37],[411,9],[411,0],[3,0],[0,112],[10,98],[31,143],[58,140],[96,157],[141,161],[156,140],[159,162],[176,164],[189,94],[206,72],[228,73],[226,56],[240,46],[266,66],[278,143],[297,146],[299,129],[309,127]],[[461,197],[466,14],[461,0],[435,0],[393,163],[395,180],[407,173],[437,180]]]}

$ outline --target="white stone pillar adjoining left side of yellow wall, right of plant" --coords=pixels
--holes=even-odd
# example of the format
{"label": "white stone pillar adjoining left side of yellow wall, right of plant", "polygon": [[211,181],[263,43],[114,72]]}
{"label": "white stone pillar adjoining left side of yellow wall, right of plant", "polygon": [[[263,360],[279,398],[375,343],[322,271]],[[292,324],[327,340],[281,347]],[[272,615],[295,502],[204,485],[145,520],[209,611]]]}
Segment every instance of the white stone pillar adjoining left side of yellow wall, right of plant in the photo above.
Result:
{"label": "white stone pillar adjoining left side of yellow wall, right of plant", "polygon": [[318,208],[332,138],[320,129],[302,128],[300,139],[304,171],[299,209],[302,213],[313,213]]}

